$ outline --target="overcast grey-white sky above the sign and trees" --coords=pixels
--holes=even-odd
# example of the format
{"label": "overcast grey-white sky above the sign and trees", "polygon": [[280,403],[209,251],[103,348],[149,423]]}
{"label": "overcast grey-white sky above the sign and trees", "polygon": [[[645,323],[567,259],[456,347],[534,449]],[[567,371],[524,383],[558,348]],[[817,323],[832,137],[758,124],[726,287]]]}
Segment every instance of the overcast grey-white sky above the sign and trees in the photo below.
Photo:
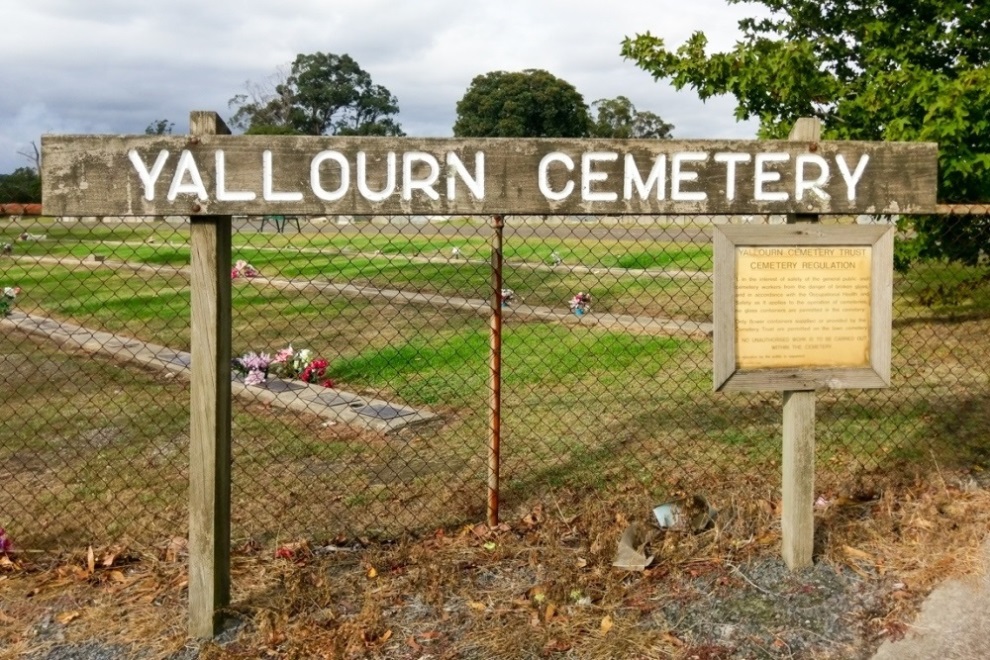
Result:
{"label": "overcast grey-white sky above the sign and trees", "polygon": [[477,75],[546,69],[589,105],[629,97],[674,124],[676,138],[751,138],[734,100],[702,103],[619,55],[651,32],[679,46],[703,30],[731,48],[763,5],[725,0],[0,0],[0,173],[43,133],[141,134],[156,119],[188,130],[191,110],[228,101],[299,53],[347,53],[399,100],[410,136],[452,135]]}

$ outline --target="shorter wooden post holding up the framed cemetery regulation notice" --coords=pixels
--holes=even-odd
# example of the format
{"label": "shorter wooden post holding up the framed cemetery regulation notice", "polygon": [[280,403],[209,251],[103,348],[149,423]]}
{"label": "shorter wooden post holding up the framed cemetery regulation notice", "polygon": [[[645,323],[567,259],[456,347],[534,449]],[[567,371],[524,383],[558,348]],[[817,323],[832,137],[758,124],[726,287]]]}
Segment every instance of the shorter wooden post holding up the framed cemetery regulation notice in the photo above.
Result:
{"label": "shorter wooden post holding up the framed cemetery regulation notice", "polygon": [[[821,139],[821,122],[801,117],[794,123],[788,139],[808,142],[809,149],[816,149]],[[787,221],[818,222],[818,216],[796,214]],[[784,392],[783,426],[781,554],[787,568],[793,571],[811,566],[815,546],[814,390]]]}

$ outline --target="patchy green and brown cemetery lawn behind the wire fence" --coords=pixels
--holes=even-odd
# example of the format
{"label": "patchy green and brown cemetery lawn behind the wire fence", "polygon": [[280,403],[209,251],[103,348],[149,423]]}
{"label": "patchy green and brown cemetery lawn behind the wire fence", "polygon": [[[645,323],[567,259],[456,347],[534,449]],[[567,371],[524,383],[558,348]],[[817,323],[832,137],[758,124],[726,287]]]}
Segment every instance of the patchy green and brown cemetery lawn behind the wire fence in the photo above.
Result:
{"label": "patchy green and brown cemetery lawn behind the wire fence", "polygon": [[[188,265],[184,227],[52,223],[43,229],[46,240],[18,242],[15,257],[98,254],[152,266]],[[0,228],[0,241],[17,230]],[[272,277],[490,295],[487,242],[470,227],[463,235],[355,231],[238,233],[234,258]],[[447,260],[453,246],[466,259]],[[563,268],[550,267],[554,251]],[[505,258],[505,285],[526,305],[564,311],[567,299],[585,290],[599,313],[699,321],[711,316],[708,281],[643,272],[709,270],[707,244],[580,241],[566,234],[513,239],[507,231]],[[186,350],[189,284],[175,268],[5,259],[0,285],[22,287],[19,310]],[[937,264],[898,277],[895,386],[821,395],[822,484],[933,452],[982,460],[986,420],[974,411],[987,396],[988,287],[976,282],[964,298],[925,302],[939,283],[977,277],[975,270]],[[490,433],[489,342],[488,320],[473,313],[235,280],[235,354],[288,344],[311,348],[329,359],[341,389],[426,407],[442,419],[384,438],[324,426],[316,417],[235,404],[239,533],[250,535],[252,527],[282,534],[395,533],[477,516]],[[733,475],[775,473],[779,395],[712,393],[710,350],[707,341],[686,337],[507,316],[501,344],[507,501],[548,486],[630,483],[659,500],[686,487],[730,488]],[[3,400],[11,441],[0,448],[0,469],[10,466],[26,484],[8,491],[0,510],[42,516],[53,529],[61,525],[78,534],[85,534],[79,521],[86,516],[98,517],[114,535],[140,533],[141,525],[182,524],[183,383],[23,337],[0,338],[0,353],[0,382],[13,393]],[[939,421],[942,410],[965,421]],[[961,453],[961,446],[976,449]],[[28,467],[21,466],[25,461]],[[46,471],[47,465],[59,467]],[[56,505],[61,512],[51,513]],[[146,513],[133,521],[97,515],[121,506]]]}

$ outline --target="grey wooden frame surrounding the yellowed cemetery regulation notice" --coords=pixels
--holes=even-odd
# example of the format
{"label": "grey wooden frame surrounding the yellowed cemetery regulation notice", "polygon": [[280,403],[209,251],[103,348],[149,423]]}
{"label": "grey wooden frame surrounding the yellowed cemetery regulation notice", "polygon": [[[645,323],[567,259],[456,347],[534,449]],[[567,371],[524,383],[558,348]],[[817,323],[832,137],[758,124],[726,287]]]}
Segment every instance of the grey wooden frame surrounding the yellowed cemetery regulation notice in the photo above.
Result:
{"label": "grey wooden frame surrounding the yellowed cemetery regulation notice", "polygon": [[[893,226],[793,224],[773,227],[716,226],[713,237],[715,391],[880,388],[890,385],[893,301]],[[737,248],[868,246],[870,257],[869,357],[865,366],[800,364],[746,369],[737,359]],[[797,251],[792,251],[797,252]],[[800,257],[794,257],[798,259]],[[795,264],[796,266],[797,264]]]}

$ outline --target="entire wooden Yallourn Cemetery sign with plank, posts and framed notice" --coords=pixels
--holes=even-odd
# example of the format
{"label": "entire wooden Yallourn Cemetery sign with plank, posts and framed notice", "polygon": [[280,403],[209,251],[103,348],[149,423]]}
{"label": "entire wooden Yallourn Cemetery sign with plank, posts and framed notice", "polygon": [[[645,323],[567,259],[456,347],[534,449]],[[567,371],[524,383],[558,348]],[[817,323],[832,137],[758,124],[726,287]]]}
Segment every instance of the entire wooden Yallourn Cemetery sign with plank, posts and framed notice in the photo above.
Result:
{"label": "entire wooden Yallourn Cemetery sign with plank, posts and framed notice", "polygon": [[[232,215],[493,215],[494,283],[502,215],[935,210],[935,144],[821,142],[817,129],[757,142],[232,136],[212,112],[193,112],[190,124],[189,136],[46,135],[41,143],[46,214],[191,218],[189,630],[196,637],[215,634],[230,600]],[[804,565],[813,390],[889,379],[890,234],[724,228],[715,249],[716,388],[786,390],[784,557]],[[493,284],[493,363],[499,290]],[[492,391],[497,439],[495,382]],[[793,457],[788,437],[803,442]]]}

